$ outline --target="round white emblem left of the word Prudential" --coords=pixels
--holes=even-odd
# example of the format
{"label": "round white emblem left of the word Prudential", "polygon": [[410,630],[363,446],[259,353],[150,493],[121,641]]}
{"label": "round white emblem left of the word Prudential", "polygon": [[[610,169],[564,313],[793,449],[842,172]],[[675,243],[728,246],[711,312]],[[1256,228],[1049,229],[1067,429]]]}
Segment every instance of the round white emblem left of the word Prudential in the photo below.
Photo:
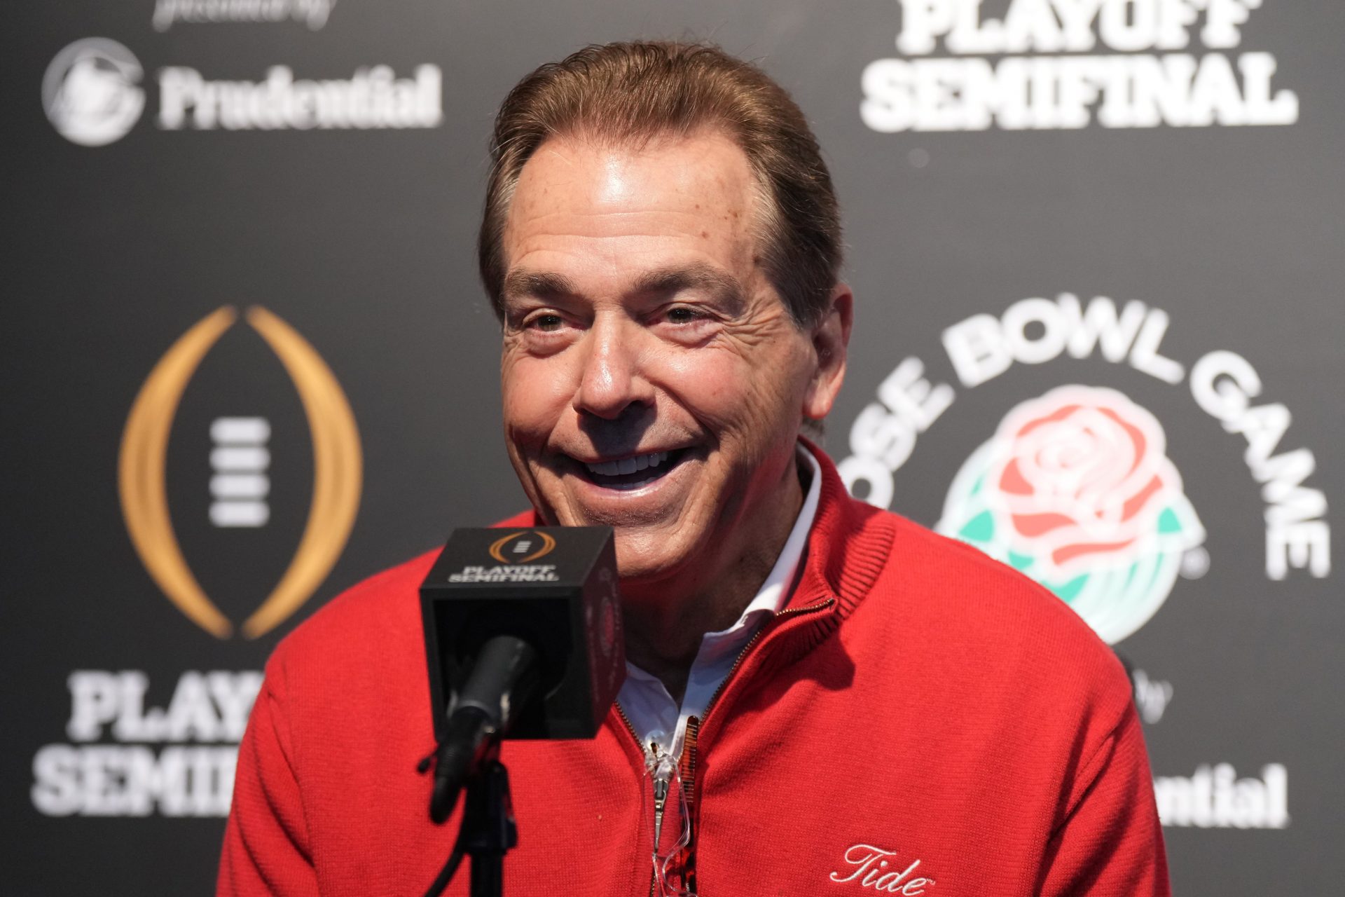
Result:
{"label": "round white emblem left of the word Prudential", "polygon": [[145,108],[140,61],[116,40],[85,38],[56,54],[42,79],[42,105],[62,137],[81,147],[121,140]]}

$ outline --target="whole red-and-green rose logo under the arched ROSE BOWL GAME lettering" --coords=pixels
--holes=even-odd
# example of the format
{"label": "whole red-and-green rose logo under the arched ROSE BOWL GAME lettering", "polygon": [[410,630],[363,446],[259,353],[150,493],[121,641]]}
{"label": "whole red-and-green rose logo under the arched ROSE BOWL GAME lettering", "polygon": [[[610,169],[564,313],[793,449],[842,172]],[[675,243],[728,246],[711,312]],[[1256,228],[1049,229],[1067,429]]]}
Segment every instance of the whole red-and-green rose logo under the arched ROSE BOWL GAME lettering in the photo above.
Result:
{"label": "whole red-and-green rose logo under the arched ROSE BOWL GAME lettering", "polygon": [[1167,598],[1205,533],[1158,420],[1116,390],[1061,386],[1005,416],[963,464],[940,533],[1033,577],[1108,643]]}

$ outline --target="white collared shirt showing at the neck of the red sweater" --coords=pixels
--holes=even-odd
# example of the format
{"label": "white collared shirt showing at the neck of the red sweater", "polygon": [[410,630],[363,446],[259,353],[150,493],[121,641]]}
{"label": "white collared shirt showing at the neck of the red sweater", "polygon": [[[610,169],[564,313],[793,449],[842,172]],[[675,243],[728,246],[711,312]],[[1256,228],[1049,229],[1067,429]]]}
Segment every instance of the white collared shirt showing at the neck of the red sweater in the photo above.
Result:
{"label": "white collared shirt showing at the neck of the red sweater", "polygon": [[691,675],[686,680],[682,706],[678,707],[672,695],[656,676],[627,662],[625,683],[616,695],[616,701],[635,728],[640,746],[648,749],[652,741],[662,750],[681,757],[687,718],[705,714],[705,706],[714,697],[725,676],[729,675],[738,654],[757,633],[757,629],[783,611],[790,601],[790,586],[794,584],[799,559],[808,542],[808,530],[812,529],[812,519],[818,514],[818,496],[822,492],[822,467],[802,444],[799,445],[799,463],[807,463],[812,471],[812,481],[808,484],[808,495],[803,500],[803,508],[794,522],[790,538],[785,539],[775,566],[771,568],[765,582],[742,611],[738,621],[722,632],[706,632],[701,637],[701,650],[691,664]]}

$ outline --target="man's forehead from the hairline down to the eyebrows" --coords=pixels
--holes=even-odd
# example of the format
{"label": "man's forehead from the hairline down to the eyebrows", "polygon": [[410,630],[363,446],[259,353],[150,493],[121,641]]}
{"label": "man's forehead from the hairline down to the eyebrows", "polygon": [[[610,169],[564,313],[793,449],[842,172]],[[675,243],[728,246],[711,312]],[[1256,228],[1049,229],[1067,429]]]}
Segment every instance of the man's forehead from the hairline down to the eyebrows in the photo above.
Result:
{"label": "man's forehead from the hairline down to the eyebrows", "polygon": [[717,132],[553,139],[512,198],[502,300],[686,288],[740,299],[756,280],[757,192],[745,153]]}

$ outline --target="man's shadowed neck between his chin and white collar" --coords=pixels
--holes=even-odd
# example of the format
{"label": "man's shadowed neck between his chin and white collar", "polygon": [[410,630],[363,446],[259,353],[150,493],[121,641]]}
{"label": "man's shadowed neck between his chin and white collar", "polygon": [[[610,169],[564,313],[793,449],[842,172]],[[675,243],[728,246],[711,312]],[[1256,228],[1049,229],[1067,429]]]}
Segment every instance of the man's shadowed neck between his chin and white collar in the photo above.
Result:
{"label": "man's shadowed neck between his chin and white collar", "polygon": [[695,565],[675,582],[627,590],[625,658],[656,676],[682,703],[701,640],[732,627],[771,574],[803,507],[800,465],[792,459],[775,507],[753,516],[763,527],[737,541],[749,549],[722,553]]}

